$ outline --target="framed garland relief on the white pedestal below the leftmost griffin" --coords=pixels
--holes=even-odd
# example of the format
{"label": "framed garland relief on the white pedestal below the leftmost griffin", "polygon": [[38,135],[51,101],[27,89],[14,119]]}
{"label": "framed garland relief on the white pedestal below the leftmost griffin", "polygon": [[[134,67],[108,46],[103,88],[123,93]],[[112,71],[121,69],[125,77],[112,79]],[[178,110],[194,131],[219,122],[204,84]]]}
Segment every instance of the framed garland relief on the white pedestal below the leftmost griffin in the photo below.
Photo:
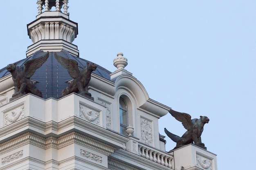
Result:
{"label": "framed garland relief on the white pedestal below the leftmost griffin", "polygon": [[10,108],[3,111],[4,114],[4,126],[12,124],[17,120],[20,120],[25,117],[24,114],[24,103],[17,105],[15,108]]}

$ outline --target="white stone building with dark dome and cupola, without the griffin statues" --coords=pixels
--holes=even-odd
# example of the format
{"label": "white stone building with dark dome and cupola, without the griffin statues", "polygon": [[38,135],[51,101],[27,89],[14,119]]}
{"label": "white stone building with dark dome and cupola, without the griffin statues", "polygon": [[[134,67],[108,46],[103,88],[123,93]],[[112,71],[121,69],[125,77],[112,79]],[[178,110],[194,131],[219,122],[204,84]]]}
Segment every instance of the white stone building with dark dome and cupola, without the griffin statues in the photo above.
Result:
{"label": "white stone building with dark dome and cupola, without the griffin statues", "polygon": [[[38,0],[36,20],[27,24],[32,44],[24,63],[49,51],[31,80],[43,97],[15,93],[12,75],[0,70],[0,170],[217,170],[216,155],[193,144],[165,151],[158,119],[170,107],[150,99],[117,53],[110,71],[92,72],[91,97],[61,91],[73,78],[55,53],[83,68],[72,44],[77,23],[69,20],[68,0]],[[53,7],[53,8],[52,8]],[[52,10],[54,9],[54,10]]]}

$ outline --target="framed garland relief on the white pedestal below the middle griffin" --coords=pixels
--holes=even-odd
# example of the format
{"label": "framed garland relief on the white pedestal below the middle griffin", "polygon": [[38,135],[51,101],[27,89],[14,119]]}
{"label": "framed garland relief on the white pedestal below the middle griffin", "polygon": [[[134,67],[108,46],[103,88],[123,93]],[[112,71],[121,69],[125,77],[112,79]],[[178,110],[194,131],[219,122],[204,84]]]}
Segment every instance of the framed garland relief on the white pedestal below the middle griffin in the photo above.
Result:
{"label": "framed garland relief on the white pedestal below the middle griffin", "polygon": [[83,104],[79,104],[79,117],[90,121],[94,124],[99,124],[99,111],[93,110],[93,108],[89,108],[88,106],[84,106]]}

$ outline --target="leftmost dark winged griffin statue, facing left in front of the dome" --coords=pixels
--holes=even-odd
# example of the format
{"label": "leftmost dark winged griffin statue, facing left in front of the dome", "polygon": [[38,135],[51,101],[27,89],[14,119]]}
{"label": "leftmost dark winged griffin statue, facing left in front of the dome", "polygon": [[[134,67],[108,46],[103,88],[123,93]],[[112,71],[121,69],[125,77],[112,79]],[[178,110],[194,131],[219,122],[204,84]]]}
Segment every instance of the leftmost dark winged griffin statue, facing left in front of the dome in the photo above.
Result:
{"label": "leftmost dark winged griffin statue, facing left in front of the dome", "polygon": [[16,66],[17,63],[8,64],[6,69],[11,72],[11,76],[14,82],[14,94],[12,97],[16,95],[25,95],[27,93],[32,93],[39,97],[42,96],[42,92],[36,88],[34,83],[29,79],[32,75],[34,75],[36,69],[40,68],[44,62],[49,57],[49,52],[42,57],[38,57],[32,60],[28,60],[24,63],[24,70],[22,71],[19,66]]}

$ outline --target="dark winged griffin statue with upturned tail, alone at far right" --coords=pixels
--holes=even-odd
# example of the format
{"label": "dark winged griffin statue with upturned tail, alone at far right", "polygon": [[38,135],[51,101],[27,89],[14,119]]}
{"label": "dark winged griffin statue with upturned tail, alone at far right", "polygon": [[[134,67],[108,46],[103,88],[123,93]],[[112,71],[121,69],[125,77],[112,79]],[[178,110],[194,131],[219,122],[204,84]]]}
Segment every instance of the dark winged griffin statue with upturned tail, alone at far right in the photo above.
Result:
{"label": "dark winged griffin statue with upturned tail, alone at far right", "polygon": [[182,135],[182,137],[179,137],[177,135],[172,134],[166,128],[164,128],[164,132],[166,133],[166,135],[177,143],[174,149],[180,148],[181,146],[187,144],[193,144],[193,142],[195,143],[195,145],[206,149],[206,147],[201,141],[201,135],[204,130],[204,124],[208,124],[210,120],[208,117],[200,116],[200,119],[191,120],[191,116],[187,113],[176,112],[172,109],[169,110],[169,113],[171,113],[171,115],[175,117],[175,119],[182,122],[182,125],[187,130],[184,133],[184,135]]}

